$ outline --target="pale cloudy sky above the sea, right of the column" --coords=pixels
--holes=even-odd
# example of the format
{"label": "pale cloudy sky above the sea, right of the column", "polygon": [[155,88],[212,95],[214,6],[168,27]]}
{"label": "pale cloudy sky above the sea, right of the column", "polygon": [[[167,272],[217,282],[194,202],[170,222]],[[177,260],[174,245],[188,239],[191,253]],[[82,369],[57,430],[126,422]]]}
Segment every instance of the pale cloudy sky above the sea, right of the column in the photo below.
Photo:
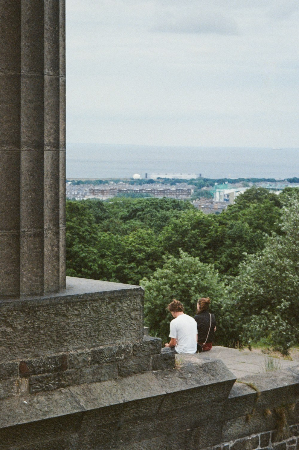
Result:
{"label": "pale cloudy sky above the sea, right of the column", "polygon": [[298,147],[298,0],[66,0],[67,141]]}

